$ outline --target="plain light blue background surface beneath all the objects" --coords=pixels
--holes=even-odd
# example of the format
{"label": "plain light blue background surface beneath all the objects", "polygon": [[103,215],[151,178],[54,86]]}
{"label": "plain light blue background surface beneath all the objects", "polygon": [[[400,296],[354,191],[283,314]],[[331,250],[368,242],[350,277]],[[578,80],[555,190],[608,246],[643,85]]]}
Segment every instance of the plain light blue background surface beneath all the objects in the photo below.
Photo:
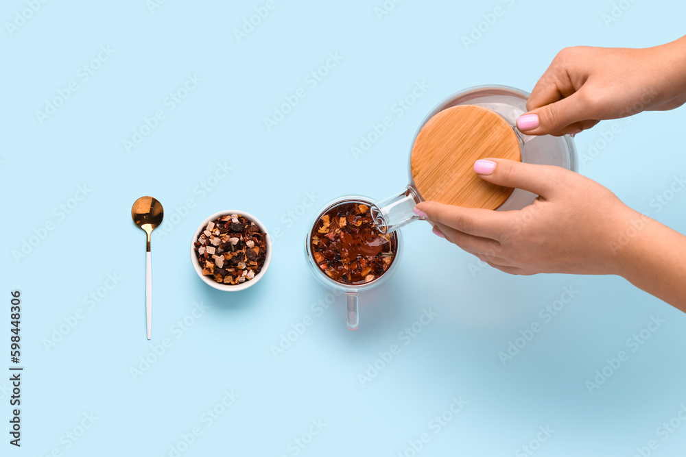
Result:
{"label": "plain light blue background surface beneath all the objects", "polygon": [[[342,297],[320,316],[311,308],[329,291],[311,277],[303,243],[330,199],[381,199],[403,188],[418,124],[451,93],[482,84],[531,90],[566,46],[674,40],[684,33],[686,5],[625,1],[630,8],[606,24],[611,1],[405,0],[379,19],[374,9],[382,0],[276,0],[239,42],[233,30],[265,3],[169,0],[151,12],[144,0],[50,1],[12,34],[3,27],[0,366],[10,365],[8,291],[18,288],[25,371],[23,445],[5,441],[0,454],[169,456],[180,435],[197,426],[202,434],[180,455],[292,456],[289,443],[318,419],[324,429],[298,455],[410,456],[408,441],[427,432],[421,456],[513,456],[546,425],[554,434],[536,456],[632,456],[651,439],[659,443],[652,455],[683,452],[686,424],[666,441],[656,429],[686,402],[686,317],[626,281],[470,271],[475,258],[414,223],[403,230],[396,274],[360,297],[360,330],[348,332]],[[498,5],[504,15],[466,49],[462,36]],[[0,18],[14,21],[25,8],[25,0],[5,1]],[[78,69],[101,46],[115,53],[82,82]],[[305,76],[335,52],[341,62],[307,86]],[[189,74],[202,82],[169,111],[165,97]],[[41,124],[36,110],[70,81],[78,91]],[[418,81],[429,90],[395,117],[394,103]],[[305,99],[268,131],[263,118],[300,87]],[[128,153],[123,140],[156,110],[165,110],[165,119]],[[384,116],[394,116],[394,124],[356,160],[351,147]],[[686,166],[685,120],[680,109],[619,121],[622,132],[580,172],[686,232],[686,193],[659,213],[650,208]],[[580,153],[614,122],[580,134]],[[217,162],[233,169],[202,195],[198,186]],[[54,208],[83,184],[91,192],[60,220]],[[308,192],[314,206],[289,221]],[[145,234],[130,219],[141,195],[160,199],[167,222],[174,221],[153,240],[150,342]],[[188,199],[193,208],[184,210]],[[225,209],[255,214],[272,234],[283,233],[268,275],[241,293],[209,288],[189,261],[197,225]],[[47,221],[54,230],[16,262],[12,251]],[[108,273],[121,281],[88,309],[84,297],[97,293]],[[576,296],[543,324],[539,310],[569,286]],[[200,301],[207,310],[177,337],[172,327]],[[54,329],[80,308],[84,319],[46,349]],[[399,332],[429,308],[438,317],[403,345]],[[651,315],[665,323],[631,352],[625,341]],[[312,325],[275,358],[270,347],[306,316]],[[541,332],[503,366],[499,351],[534,322]],[[134,379],[130,369],[163,338],[171,347]],[[358,374],[393,344],[399,354],[362,386]],[[584,383],[621,350],[629,359],[589,394]],[[8,382],[0,387],[6,427]],[[235,404],[211,425],[202,421],[232,389]],[[435,434],[429,421],[452,397],[466,406]],[[67,441],[91,412],[91,428]]]}

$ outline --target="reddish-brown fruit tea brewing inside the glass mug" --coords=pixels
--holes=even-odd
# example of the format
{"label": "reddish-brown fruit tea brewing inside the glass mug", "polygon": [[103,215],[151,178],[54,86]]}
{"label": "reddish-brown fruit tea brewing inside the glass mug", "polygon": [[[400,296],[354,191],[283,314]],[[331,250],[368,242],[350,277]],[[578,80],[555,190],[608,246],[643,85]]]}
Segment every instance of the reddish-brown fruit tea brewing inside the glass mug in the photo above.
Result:
{"label": "reddish-brown fruit tea brewing inside the glass mug", "polygon": [[398,247],[394,233],[381,234],[369,206],[344,202],[329,209],[311,232],[319,268],[342,284],[365,284],[388,271]]}

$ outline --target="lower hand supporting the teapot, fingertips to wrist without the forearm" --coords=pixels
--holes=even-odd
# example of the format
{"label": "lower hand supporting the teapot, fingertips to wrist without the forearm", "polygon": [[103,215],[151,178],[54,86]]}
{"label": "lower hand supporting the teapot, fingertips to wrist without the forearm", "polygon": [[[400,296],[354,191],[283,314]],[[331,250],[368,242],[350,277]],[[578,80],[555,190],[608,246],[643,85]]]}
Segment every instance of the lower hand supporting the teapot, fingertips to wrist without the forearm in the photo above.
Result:
{"label": "lower hand supporting the teapot, fingertips to wrist without the forearm", "polygon": [[506,273],[619,272],[613,243],[641,214],[610,190],[559,166],[492,159],[477,160],[475,171],[485,181],[539,197],[523,210],[502,212],[419,203],[418,214],[436,234]]}

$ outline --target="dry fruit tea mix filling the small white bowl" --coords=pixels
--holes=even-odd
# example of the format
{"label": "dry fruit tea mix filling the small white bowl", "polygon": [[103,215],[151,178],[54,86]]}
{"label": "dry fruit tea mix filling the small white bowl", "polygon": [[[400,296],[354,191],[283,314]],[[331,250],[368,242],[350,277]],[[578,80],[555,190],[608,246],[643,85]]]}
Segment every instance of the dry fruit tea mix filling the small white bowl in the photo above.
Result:
{"label": "dry fruit tea mix filling the small white bowl", "polygon": [[245,216],[227,214],[207,223],[194,243],[202,274],[235,286],[252,280],[264,266],[267,242]]}

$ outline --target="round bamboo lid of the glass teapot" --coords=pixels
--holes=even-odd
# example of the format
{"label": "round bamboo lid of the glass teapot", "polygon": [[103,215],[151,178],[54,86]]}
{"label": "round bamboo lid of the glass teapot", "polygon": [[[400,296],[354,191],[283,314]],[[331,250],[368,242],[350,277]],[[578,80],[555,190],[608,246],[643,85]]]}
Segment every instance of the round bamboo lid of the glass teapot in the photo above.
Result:
{"label": "round bamboo lid of the glass teapot", "polygon": [[474,162],[488,157],[521,161],[519,140],[510,124],[480,106],[447,108],[429,119],[414,140],[414,186],[424,200],[495,210],[514,189],[474,173]]}

